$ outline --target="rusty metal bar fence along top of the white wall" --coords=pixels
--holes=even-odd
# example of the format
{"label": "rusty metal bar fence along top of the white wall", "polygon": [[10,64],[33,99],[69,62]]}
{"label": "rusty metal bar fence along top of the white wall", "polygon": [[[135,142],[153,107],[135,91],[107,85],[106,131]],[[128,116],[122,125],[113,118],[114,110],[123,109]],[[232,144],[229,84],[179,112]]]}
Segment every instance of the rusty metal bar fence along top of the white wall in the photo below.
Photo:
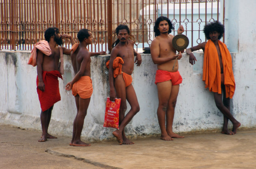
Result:
{"label": "rusty metal bar fence along top of the white wall", "polygon": [[48,27],[58,27],[77,42],[77,32],[87,28],[94,36],[89,50],[110,51],[115,27],[126,24],[141,51],[154,39],[157,17],[172,21],[174,35],[182,24],[193,46],[205,40],[206,23],[223,23],[225,6],[224,0],[0,0],[0,10],[0,49],[32,50]]}

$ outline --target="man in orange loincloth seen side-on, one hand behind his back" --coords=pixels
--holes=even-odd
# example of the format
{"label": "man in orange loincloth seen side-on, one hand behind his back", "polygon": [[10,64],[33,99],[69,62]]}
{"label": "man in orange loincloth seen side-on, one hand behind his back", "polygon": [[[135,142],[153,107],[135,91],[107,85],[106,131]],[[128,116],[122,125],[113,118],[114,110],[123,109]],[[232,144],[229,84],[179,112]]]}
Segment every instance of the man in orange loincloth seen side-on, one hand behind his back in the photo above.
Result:
{"label": "man in orange loincloth seen side-on, one hand behind his back", "polygon": [[[87,50],[87,45],[92,43],[93,36],[87,29],[78,32],[79,44],[72,46],[71,61],[75,77],[66,85],[66,90],[72,89],[72,94],[76,100],[77,114],[73,125],[73,136],[70,146],[91,146],[81,141],[81,133],[85,116],[93,93],[91,81],[91,53]],[[101,53],[103,54],[103,53]]]}

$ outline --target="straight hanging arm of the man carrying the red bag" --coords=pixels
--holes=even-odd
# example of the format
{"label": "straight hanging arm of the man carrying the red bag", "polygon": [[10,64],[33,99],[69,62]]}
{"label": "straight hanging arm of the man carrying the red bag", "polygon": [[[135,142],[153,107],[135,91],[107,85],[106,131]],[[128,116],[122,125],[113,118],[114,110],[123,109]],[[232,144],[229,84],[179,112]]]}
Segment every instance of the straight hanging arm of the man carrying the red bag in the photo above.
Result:
{"label": "straight hanging arm of the man carrying the red bag", "polygon": [[115,101],[117,94],[115,93],[114,87],[114,75],[113,75],[113,61],[117,57],[118,51],[116,48],[113,48],[110,54],[109,60],[109,70],[108,70],[108,80],[109,80],[109,87],[110,87],[110,100]]}

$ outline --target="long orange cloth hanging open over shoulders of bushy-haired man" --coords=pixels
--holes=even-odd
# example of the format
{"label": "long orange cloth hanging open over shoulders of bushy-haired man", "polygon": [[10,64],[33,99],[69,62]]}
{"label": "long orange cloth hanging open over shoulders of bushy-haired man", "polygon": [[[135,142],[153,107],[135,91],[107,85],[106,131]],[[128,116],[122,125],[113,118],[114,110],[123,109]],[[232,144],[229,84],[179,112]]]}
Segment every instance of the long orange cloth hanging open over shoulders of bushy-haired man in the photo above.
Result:
{"label": "long orange cloth hanging open over shoulders of bushy-haired man", "polygon": [[[219,49],[223,64],[224,85],[226,98],[232,99],[236,88],[234,74],[232,70],[232,57],[226,44],[219,40]],[[213,41],[208,40],[204,51],[203,81],[205,88],[221,94],[221,68],[219,64],[218,52]]]}

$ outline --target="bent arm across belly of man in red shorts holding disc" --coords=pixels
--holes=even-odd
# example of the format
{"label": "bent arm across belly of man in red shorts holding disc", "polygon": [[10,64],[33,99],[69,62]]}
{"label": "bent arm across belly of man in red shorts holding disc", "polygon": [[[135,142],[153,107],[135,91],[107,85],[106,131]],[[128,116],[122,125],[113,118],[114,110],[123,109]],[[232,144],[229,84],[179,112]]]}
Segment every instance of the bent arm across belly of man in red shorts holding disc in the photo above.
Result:
{"label": "bent arm across belly of man in red shorts holding disc", "polygon": [[179,58],[180,55],[174,55],[172,57],[159,57],[160,46],[159,46],[159,42],[156,39],[154,39],[150,45],[150,53],[151,53],[152,61],[155,64],[163,64],[163,63],[166,63],[167,61],[174,60],[176,57],[180,59]]}

